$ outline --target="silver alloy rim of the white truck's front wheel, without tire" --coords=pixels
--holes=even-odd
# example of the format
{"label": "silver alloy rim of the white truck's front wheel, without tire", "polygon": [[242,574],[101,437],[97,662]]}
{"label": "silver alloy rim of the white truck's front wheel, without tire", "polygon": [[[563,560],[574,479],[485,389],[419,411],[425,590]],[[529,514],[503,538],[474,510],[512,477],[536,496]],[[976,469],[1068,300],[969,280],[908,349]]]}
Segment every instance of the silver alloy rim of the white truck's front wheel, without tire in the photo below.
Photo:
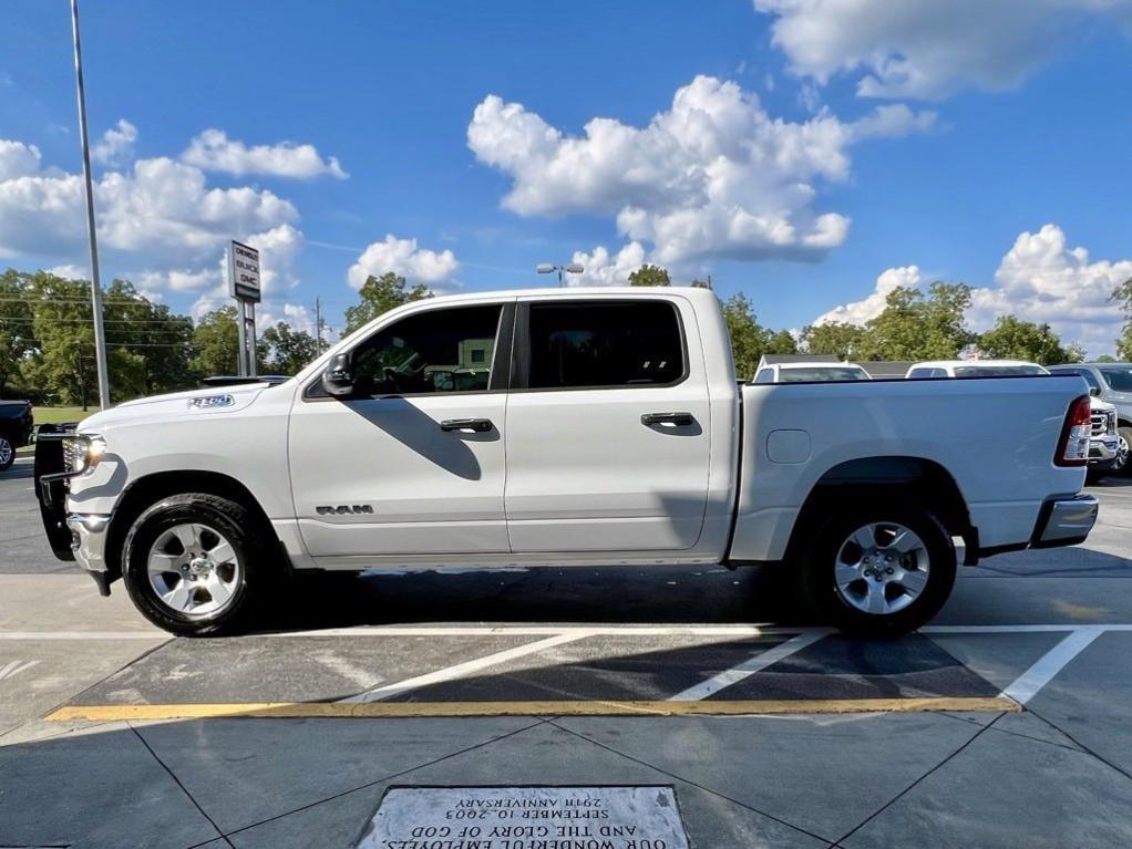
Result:
{"label": "silver alloy rim of the white truck's front wheel, without tire", "polygon": [[192,617],[218,614],[240,583],[232,543],[198,522],[162,531],[149,547],[147,568],[149,586],[162,603]]}

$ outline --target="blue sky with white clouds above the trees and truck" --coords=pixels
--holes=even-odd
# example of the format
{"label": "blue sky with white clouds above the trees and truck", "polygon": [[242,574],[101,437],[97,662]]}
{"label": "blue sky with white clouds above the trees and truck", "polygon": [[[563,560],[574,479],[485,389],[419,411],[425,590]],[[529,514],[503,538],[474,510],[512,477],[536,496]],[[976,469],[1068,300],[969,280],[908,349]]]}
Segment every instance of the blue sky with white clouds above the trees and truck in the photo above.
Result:
{"label": "blue sky with white clouds above the trees and truck", "polygon": [[[258,237],[266,316],[303,325],[318,295],[333,325],[355,264],[474,291],[581,254],[582,283],[661,261],[794,328],[947,278],[977,326],[1109,351],[1129,6],[892,6],[87,0],[92,137],[122,134],[96,165],[103,276],[199,314],[226,238]],[[68,3],[2,17],[0,265],[83,274]]]}

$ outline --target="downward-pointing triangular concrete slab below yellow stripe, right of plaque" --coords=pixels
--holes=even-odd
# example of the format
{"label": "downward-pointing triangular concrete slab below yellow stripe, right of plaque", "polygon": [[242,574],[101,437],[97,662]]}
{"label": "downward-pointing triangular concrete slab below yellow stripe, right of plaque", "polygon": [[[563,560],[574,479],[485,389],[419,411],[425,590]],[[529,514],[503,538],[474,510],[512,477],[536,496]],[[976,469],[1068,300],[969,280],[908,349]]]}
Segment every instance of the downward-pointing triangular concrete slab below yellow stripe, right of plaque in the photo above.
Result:
{"label": "downward-pointing triangular concrete slab below yellow stripe, right of plaque", "polygon": [[830,841],[979,731],[923,713],[556,722]]}

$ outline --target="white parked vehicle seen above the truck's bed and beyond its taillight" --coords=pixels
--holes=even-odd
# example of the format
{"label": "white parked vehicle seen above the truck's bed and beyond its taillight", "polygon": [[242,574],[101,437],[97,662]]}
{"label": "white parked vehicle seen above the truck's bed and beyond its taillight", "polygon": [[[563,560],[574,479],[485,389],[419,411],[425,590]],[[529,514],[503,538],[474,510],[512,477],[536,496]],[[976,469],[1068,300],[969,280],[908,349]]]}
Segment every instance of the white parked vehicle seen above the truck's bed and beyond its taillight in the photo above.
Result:
{"label": "white parked vehicle seen above the truck's bed and beyond its taillight", "polygon": [[[1065,369],[1067,367],[1055,366],[1052,368]],[[1132,381],[1132,366],[1129,369],[1129,380]],[[1024,360],[937,360],[915,363],[908,369],[904,377],[915,380],[933,377],[1012,377],[1049,374],[1052,374],[1052,369]],[[1058,371],[1057,374],[1067,372]],[[1080,372],[1072,371],[1071,374]],[[1132,437],[1132,429],[1125,435],[1124,458],[1121,461],[1122,443],[1117,432],[1116,406],[1098,397],[1095,377],[1092,380],[1086,377],[1086,383],[1089,384],[1090,396],[1089,477],[1098,479],[1126,468],[1129,437]],[[1130,406],[1132,406],[1132,394],[1127,397]],[[1117,462],[1120,462],[1120,468],[1117,468]]]}

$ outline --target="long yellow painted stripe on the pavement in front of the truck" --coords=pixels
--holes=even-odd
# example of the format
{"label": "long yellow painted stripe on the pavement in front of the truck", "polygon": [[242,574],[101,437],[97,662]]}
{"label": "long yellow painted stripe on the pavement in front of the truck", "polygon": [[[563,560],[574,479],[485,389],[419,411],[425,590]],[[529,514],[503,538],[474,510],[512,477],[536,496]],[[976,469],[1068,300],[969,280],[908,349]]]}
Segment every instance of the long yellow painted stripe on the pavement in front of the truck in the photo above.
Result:
{"label": "long yellow painted stripe on the pavement in front of the truck", "polygon": [[909,698],[831,698],[703,702],[249,702],[232,704],[72,704],[45,719],[93,720],[275,719],[413,717],[734,717],[757,713],[908,713],[916,711],[1020,711],[1004,696]]}

